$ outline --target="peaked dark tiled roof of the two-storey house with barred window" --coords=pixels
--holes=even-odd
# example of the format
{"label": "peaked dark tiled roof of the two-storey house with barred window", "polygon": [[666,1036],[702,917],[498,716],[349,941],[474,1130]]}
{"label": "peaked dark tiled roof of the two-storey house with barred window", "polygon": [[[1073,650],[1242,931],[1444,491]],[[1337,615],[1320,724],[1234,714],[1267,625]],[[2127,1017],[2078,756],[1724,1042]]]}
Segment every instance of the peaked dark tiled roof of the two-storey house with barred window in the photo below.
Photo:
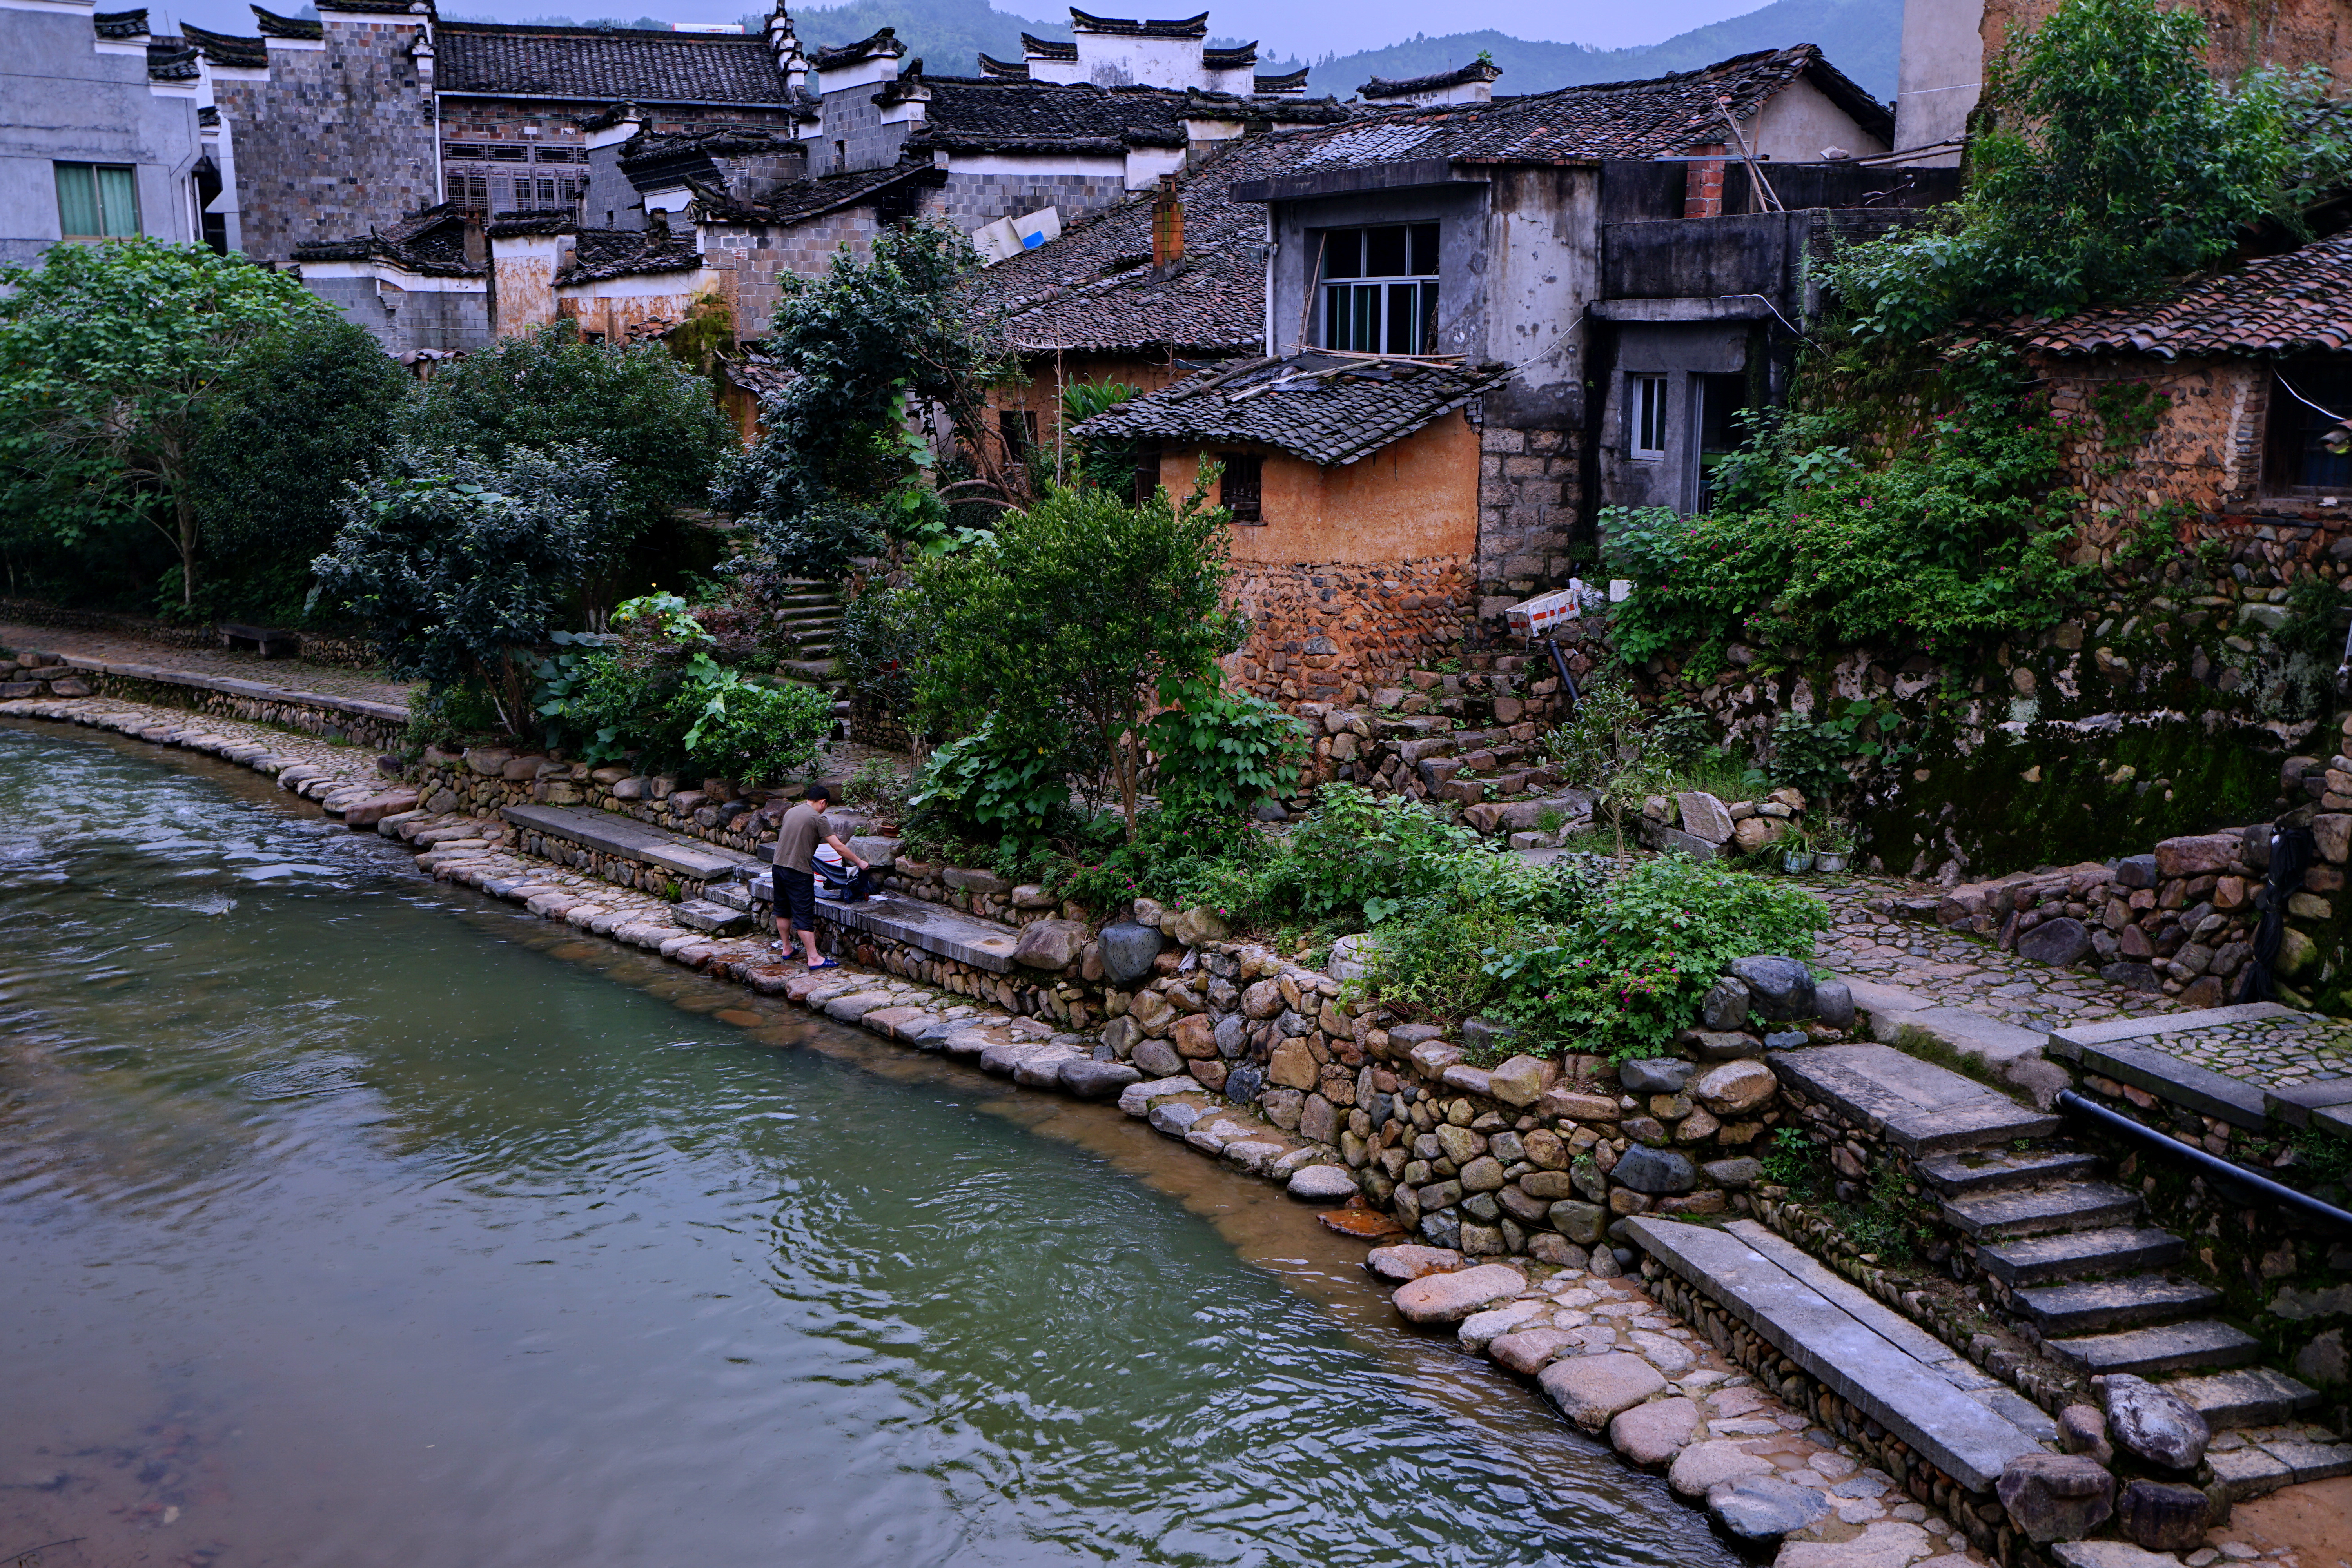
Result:
{"label": "peaked dark tiled roof of the two-storey house with barred window", "polygon": [[1562,87],[1491,103],[1406,108],[1315,136],[1294,172],[1402,160],[1585,162],[1670,158],[1724,141],[1717,99],[1748,120],[1783,87],[1809,80],[1865,129],[1891,136],[1893,113],[1830,66],[1813,45],[1764,49],[1644,82]]}

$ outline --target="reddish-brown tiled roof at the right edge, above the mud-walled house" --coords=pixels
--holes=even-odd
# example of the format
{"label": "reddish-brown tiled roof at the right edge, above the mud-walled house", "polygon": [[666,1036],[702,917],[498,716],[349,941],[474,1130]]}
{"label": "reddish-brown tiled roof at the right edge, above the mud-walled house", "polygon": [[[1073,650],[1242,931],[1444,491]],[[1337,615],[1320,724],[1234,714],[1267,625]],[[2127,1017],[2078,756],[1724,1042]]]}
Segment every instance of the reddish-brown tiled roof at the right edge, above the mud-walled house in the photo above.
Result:
{"label": "reddish-brown tiled roof at the right edge, above the mud-walled house", "polygon": [[2105,306],[2016,329],[2060,355],[2293,355],[2352,350],[2352,235],[2314,240],[2234,273],[2192,277],[2140,306]]}

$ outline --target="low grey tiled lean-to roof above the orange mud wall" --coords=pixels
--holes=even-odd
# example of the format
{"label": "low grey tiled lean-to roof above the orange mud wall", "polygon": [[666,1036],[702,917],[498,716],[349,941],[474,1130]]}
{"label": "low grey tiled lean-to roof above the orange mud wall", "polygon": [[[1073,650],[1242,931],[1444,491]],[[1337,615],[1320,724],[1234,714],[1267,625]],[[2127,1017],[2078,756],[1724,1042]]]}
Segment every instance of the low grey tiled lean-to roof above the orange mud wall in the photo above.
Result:
{"label": "low grey tiled lean-to roof above the orange mud wall", "polygon": [[1508,364],[1446,364],[1303,350],[1209,369],[1122,402],[1077,435],[1275,447],[1338,468],[1397,442],[1510,378]]}

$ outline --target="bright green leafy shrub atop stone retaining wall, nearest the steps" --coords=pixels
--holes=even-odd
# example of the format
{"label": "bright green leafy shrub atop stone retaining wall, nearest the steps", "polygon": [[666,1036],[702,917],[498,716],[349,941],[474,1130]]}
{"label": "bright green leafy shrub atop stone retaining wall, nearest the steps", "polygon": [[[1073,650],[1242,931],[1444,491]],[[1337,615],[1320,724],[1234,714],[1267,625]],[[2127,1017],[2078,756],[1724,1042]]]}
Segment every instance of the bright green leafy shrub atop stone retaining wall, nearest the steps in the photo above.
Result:
{"label": "bright green leafy shrub atop stone retaining wall, nearest the steps", "polygon": [[1625,870],[1571,924],[1489,952],[1503,1011],[1529,1037],[1656,1056],[1731,959],[1811,957],[1820,900],[1715,863],[1661,856]]}

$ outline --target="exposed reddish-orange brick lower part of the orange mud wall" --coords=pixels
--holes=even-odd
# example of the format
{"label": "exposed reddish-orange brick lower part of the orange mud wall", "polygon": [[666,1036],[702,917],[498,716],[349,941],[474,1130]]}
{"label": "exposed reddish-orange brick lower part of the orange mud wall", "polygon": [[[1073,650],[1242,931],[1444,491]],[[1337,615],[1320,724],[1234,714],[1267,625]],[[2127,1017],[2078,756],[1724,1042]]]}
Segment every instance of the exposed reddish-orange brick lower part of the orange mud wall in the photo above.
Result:
{"label": "exposed reddish-orange brick lower part of the orange mud wall", "polygon": [[1461,559],[1383,567],[1244,562],[1232,607],[1249,618],[1237,679],[1275,703],[1357,703],[1461,651],[1472,588]]}

